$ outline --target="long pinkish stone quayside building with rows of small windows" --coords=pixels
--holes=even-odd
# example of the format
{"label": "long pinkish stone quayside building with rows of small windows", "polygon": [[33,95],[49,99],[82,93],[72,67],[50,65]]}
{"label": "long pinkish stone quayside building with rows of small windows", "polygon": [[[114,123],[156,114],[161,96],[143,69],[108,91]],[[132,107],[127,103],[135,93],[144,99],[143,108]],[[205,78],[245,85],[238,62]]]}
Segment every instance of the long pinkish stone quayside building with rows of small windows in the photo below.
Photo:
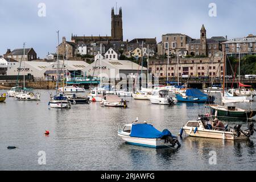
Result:
{"label": "long pinkish stone quayside building with rows of small windows", "polygon": [[207,77],[223,75],[223,59],[222,57],[203,57],[203,58],[187,58],[179,59],[179,67],[177,59],[170,59],[169,67],[167,67],[167,59],[150,59],[149,71],[154,76],[160,78],[167,77]]}

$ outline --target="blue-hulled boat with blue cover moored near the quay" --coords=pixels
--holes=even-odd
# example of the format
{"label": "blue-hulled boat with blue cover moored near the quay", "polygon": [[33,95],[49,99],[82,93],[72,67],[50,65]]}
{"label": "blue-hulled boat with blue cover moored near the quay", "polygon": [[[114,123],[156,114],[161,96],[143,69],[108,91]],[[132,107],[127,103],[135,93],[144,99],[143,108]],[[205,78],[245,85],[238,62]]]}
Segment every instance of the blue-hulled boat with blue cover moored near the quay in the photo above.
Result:
{"label": "blue-hulled boat with blue cover moored near the quay", "polygon": [[214,102],[214,96],[208,96],[199,89],[187,89],[185,93],[175,93],[179,102]]}

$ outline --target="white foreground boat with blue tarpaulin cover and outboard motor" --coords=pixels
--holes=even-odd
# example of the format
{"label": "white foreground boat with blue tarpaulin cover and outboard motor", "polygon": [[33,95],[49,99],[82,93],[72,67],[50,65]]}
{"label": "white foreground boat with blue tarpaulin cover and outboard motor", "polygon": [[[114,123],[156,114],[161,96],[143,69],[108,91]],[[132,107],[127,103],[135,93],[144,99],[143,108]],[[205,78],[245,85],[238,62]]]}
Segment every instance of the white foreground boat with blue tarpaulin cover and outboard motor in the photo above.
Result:
{"label": "white foreground boat with blue tarpaulin cover and outboard motor", "polygon": [[181,146],[177,137],[172,135],[169,130],[165,129],[161,132],[146,122],[127,124],[118,131],[118,136],[127,143],[139,146],[170,147],[172,149],[177,149]]}

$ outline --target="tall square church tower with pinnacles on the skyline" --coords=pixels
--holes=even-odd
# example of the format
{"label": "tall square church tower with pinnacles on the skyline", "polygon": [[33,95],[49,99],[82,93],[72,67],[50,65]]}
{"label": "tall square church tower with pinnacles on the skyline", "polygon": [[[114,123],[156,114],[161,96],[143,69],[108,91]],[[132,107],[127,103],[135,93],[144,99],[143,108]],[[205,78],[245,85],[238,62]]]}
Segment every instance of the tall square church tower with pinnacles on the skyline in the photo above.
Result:
{"label": "tall square church tower with pinnacles on the skyline", "polygon": [[111,12],[111,36],[115,40],[123,41],[123,22],[122,22],[122,8],[119,8],[119,14],[114,14],[114,7]]}

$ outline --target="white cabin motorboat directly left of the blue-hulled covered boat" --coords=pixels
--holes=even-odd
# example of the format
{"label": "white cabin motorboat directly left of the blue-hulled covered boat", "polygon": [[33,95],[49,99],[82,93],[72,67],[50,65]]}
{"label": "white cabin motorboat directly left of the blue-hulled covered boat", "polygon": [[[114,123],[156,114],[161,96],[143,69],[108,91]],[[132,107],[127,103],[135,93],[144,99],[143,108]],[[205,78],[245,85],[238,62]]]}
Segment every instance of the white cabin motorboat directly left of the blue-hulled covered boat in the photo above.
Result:
{"label": "white cabin motorboat directly left of the blue-hulled covered boat", "polygon": [[168,95],[169,90],[159,90],[150,96],[151,104],[172,105],[174,100]]}

